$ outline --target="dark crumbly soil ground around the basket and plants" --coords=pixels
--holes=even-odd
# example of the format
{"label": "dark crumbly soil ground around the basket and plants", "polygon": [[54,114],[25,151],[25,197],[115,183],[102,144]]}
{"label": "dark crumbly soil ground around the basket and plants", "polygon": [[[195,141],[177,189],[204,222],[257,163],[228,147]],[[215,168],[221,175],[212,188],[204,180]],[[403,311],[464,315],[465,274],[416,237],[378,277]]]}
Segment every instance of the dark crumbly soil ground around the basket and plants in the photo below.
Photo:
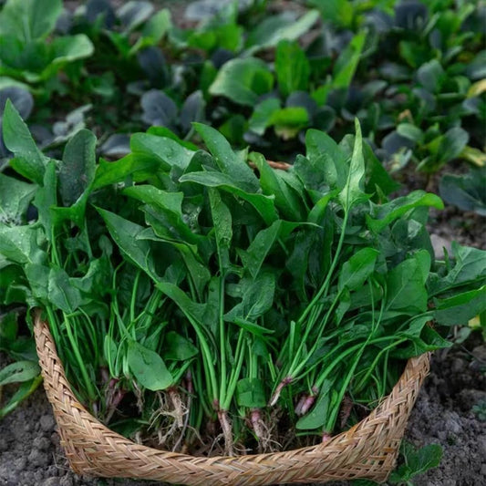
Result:
{"label": "dark crumbly soil ground around the basket and plants", "polygon": [[[174,20],[180,23],[189,2],[155,3],[170,6]],[[76,6],[79,2],[66,4]],[[424,187],[423,181],[415,181],[411,173],[403,182],[408,190]],[[453,240],[485,248],[485,227],[484,218],[453,208],[432,213],[429,224],[438,256],[442,254],[442,246],[449,249]],[[4,364],[5,357],[0,354],[0,365]],[[5,394],[9,391],[12,390],[6,388]],[[472,409],[481,401],[486,404],[486,345],[476,334],[464,344],[442,350],[432,358],[431,372],[409,419],[406,439],[417,447],[440,444],[444,456],[438,468],[413,480],[416,486],[486,485],[486,422]],[[69,470],[42,388],[0,421],[0,486],[154,484],[160,483],[90,479]]]}

